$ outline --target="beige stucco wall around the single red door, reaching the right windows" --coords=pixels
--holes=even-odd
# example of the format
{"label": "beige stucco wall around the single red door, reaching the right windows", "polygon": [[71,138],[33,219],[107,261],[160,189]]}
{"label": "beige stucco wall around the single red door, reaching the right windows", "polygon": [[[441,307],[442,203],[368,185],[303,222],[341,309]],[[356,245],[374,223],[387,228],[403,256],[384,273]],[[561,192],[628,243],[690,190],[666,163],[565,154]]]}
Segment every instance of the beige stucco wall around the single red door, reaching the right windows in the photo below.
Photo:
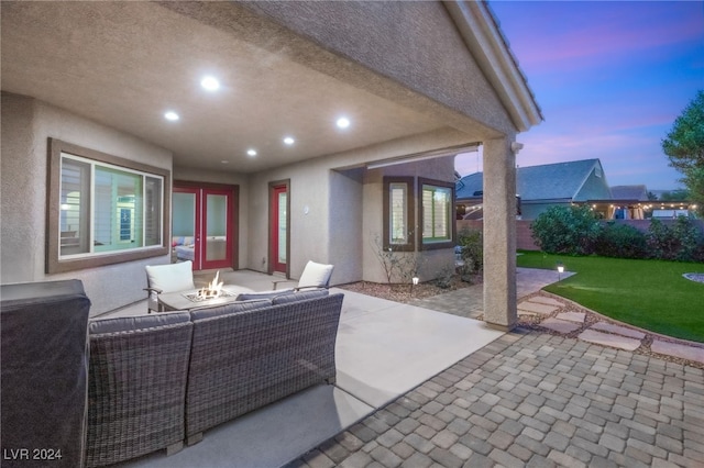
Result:
{"label": "beige stucco wall around the single red door, reaching the right windows", "polygon": [[[382,232],[383,174],[454,181],[454,157],[367,170],[365,163],[473,142],[452,129],[385,142],[323,158],[262,171],[249,178],[246,264],[266,271],[268,261],[268,183],[290,180],[290,276],[299,278],[309,259],[336,265],[331,283],[382,281],[373,254],[373,234]],[[372,178],[369,174],[375,172]],[[375,179],[377,177],[378,179]],[[308,214],[304,208],[308,207]],[[361,254],[360,254],[361,253]],[[428,277],[451,260],[450,250],[424,254]]]}

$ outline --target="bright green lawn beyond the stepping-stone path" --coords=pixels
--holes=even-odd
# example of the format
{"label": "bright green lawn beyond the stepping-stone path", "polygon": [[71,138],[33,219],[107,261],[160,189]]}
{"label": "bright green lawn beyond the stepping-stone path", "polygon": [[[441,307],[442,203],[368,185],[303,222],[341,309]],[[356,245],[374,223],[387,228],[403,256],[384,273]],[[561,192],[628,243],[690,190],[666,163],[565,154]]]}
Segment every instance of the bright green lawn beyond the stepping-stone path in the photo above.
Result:
{"label": "bright green lawn beyond the stepping-stone path", "polygon": [[556,269],[561,261],[576,272],[546,291],[641,328],[704,343],[704,283],[682,277],[704,272],[704,264],[521,254],[519,267]]}

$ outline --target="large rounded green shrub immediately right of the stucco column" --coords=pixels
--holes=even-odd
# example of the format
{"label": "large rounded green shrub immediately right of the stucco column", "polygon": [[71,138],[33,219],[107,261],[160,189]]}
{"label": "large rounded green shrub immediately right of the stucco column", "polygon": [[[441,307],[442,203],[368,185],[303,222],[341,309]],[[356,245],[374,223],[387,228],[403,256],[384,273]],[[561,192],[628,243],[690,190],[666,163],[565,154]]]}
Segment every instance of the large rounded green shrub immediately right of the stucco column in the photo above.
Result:
{"label": "large rounded green shrub immediately right of the stucco column", "polygon": [[584,207],[550,207],[531,223],[532,238],[550,254],[588,255],[601,226],[592,210]]}

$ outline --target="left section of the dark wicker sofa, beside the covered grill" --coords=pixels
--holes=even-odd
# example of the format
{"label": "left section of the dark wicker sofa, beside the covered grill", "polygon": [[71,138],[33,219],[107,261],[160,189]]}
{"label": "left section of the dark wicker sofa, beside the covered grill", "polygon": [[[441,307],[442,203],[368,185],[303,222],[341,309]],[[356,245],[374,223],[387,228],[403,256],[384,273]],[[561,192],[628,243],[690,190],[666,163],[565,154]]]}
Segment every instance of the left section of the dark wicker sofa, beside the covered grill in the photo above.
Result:
{"label": "left section of the dark wicker sofa, beside the covered grill", "polygon": [[86,466],[183,448],[187,312],[90,323]]}

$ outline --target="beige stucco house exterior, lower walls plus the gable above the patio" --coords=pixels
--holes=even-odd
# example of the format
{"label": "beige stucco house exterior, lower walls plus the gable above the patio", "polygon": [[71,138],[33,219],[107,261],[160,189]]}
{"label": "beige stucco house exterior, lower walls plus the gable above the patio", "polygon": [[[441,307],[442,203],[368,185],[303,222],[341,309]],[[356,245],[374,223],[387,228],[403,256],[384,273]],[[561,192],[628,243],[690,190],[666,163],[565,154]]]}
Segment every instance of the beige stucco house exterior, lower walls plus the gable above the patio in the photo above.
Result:
{"label": "beige stucco house exterior, lower walls plus the gable above the patio", "polygon": [[[515,124],[441,2],[216,3],[209,9],[197,2],[166,2],[162,7],[193,14],[204,24],[235,36],[241,33],[239,38],[248,44],[275,49],[400,108],[432,115],[444,125],[253,175],[174,168],[176,180],[240,186],[241,268],[266,271],[271,181],[290,181],[292,277],[299,277],[306,261],[312,259],[336,265],[333,285],[384,280],[370,243],[374,233],[382,232],[383,175],[451,182],[453,157],[374,171],[365,169],[366,163],[492,138],[502,141],[492,160],[514,157],[506,143],[515,137]],[[240,31],[234,21],[238,16],[256,21]],[[260,22],[263,27],[256,27]],[[275,22],[292,31],[282,31]],[[61,102],[62,97],[53,99]],[[3,96],[2,282],[81,279],[94,301],[94,315],[142,300],[144,266],[168,263],[168,255],[72,274],[44,272],[48,136],[169,170],[173,166],[170,152],[135,136],[38,100]],[[198,155],[191,156],[189,164],[197,165]],[[497,172],[491,181],[499,182],[504,176]],[[422,279],[435,277],[453,259],[452,249],[421,255],[427,258]],[[8,267],[15,264],[16,268]],[[508,267],[507,275],[497,272],[496,283],[512,282],[510,263]],[[513,309],[515,313],[515,304]]]}

